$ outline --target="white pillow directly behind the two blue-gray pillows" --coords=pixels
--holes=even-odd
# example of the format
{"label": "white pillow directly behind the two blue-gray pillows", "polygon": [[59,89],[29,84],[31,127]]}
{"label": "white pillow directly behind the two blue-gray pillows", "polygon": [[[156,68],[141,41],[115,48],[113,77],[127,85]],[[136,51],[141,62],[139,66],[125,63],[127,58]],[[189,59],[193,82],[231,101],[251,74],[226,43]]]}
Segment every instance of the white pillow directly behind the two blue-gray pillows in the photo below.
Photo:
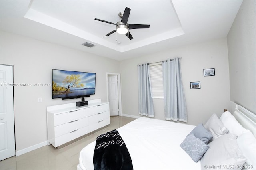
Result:
{"label": "white pillow directly behind the two blue-gray pillows", "polygon": [[204,128],[212,134],[213,140],[228,133],[228,129],[224,127],[222,121],[220,121],[215,113],[206,122]]}

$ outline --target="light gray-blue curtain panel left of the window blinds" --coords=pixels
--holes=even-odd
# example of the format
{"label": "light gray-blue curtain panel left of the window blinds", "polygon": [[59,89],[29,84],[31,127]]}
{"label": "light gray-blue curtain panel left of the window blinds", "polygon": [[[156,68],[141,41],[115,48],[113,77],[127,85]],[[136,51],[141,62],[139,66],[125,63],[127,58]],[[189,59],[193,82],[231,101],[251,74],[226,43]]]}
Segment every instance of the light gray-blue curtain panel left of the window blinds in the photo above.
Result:
{"label": "light gray-blue curtain panel left of the window blinds", "polygon": [[138,65],[139,114],[154,117],[149,64]]}

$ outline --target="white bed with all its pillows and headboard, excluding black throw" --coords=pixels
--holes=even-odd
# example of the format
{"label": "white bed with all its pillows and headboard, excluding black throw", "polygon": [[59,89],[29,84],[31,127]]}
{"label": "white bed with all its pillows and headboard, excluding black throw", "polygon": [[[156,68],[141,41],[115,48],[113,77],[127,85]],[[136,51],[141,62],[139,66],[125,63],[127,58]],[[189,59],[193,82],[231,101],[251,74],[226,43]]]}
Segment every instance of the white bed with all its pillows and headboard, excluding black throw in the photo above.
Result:
{"label": "white bed with all its pillows and headboard, excluding black throw", "polygon": [[[233,114],[226,111],[220,118],[213,114],[205,125],[141,117],[117,130],[126,144],[134,170],[254,169],[256,115],[239,105],[235,107]],[[196,142],[192,144],[196,146],[196,153],[193,147],[188,147],[191,141]],[[81,150],[78,170],[94,170],[95,144],[96,141]],[[234,149],[233,145],[239,148]],[[220,153],[215,153],[215,148]],[[226,154],[227,148],[232,153]],[[230,155],[233,157],[225,158]]]}

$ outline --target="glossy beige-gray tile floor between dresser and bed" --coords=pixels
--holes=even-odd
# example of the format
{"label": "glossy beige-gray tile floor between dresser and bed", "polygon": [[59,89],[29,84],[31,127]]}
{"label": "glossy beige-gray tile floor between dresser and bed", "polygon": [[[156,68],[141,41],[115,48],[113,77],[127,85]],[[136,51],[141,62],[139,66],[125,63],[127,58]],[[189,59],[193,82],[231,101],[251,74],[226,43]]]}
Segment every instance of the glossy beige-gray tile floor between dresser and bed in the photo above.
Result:
{"label": "glossy beige-gray tile floor between dresser and bed", "polygon": [[102,133],[109,132],[126,125],[134,118],[111,116],[108,127],[63,148],[52,145],[38,148],[20,156],[0,161],[0,170],[76,170],[79,164],[79,153],[86,145],[96,140]]}

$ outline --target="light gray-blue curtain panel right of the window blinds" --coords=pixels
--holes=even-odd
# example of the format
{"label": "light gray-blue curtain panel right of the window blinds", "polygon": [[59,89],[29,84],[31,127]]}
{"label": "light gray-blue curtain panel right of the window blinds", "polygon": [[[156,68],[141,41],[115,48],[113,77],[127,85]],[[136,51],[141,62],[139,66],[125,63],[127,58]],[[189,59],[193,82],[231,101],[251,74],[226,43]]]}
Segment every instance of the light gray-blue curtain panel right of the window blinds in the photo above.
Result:
{"label": "light gray-blue curtain panel right of the window blinds", "polygon": [[162,68],[165,119],[187,122],[187,107],[182,86],[180,58],[163,61]]}

